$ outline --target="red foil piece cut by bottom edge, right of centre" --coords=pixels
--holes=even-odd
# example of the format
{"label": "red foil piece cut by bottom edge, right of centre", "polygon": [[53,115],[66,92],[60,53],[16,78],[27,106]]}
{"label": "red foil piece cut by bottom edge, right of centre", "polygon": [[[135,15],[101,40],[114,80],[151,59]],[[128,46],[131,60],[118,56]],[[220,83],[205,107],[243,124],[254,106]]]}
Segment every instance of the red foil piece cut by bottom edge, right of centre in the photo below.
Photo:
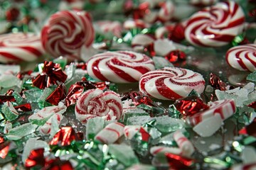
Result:
{"label": "red foil piece cut by bottom edge, right of centre", "polygon": [[181,157],[177,154],[166,153],[165,155],[170,169],[191,169],[191,166],[194,164],[193,159]]}

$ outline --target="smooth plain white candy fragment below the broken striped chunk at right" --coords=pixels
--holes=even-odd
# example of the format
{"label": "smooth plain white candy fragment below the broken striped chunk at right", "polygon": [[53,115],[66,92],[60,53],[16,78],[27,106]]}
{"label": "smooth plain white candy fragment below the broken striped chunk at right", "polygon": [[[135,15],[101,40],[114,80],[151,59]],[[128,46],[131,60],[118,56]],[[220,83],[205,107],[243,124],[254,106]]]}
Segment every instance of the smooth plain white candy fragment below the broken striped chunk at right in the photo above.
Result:
{"label": "smooth plain white candy fragment below the broken striped chunk at right", "polygon": [[194,128],[198,135],[201,137],[209,137],[213,135],[222,125],[223,120],[220,117],[220,114],[215,114],[206,120],[203,120],[201,123],[198,123]]}

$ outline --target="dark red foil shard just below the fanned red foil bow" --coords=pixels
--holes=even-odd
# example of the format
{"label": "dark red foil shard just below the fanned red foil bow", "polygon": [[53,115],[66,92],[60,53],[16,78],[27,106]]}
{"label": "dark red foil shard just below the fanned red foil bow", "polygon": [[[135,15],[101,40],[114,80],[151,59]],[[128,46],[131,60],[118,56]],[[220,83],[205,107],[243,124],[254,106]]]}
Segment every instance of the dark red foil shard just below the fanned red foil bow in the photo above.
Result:
{"label": "dark red foil shard just below the fanned red foil bow", "polygon": [[60,84],[47,98],[46,101],[55,106],[66,97],[65,84]]}

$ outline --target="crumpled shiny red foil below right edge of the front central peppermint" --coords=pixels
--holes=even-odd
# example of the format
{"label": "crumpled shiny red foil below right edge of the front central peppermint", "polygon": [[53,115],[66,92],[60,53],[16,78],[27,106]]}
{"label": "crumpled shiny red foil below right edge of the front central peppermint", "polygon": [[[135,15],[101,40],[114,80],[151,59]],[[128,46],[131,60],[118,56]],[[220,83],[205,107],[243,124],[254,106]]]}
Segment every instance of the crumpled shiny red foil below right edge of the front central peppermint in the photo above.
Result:
{"label": "crumpled shiny red foil below right edge of the front central peppermint", "polygon": [[209,106],[206,105],[206,103],[203,103],[201,98],[198,98],[197,96],[180,98],[175,101],[174,106],[184,117],[196,114],[199,111],[204,111],[209,108]]}

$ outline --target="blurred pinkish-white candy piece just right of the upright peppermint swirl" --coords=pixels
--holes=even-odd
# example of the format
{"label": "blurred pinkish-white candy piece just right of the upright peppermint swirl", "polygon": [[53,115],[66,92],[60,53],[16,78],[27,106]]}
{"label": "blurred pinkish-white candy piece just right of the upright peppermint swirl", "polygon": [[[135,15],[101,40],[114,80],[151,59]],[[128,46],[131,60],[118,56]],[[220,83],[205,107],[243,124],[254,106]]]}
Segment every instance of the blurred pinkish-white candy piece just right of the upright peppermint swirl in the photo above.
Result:
{"label": "blurred pinkish-white candy piece just right of the upright peppermint swirl", "polygon": [[122,34],[122,24],[119,21],[97,21],[95,26],[99,27],[103,33],[112,33],[120,38]]}

